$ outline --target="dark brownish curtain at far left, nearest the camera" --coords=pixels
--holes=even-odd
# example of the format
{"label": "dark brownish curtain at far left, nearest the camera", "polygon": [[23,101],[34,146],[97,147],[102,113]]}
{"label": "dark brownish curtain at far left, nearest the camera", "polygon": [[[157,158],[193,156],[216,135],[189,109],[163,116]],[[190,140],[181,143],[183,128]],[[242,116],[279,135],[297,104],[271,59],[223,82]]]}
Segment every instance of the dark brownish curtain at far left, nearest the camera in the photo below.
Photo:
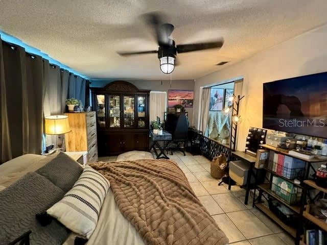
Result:
{"label": "dark brownish curtain at far left, nearest the camera", "polygon": [[0,39],[1,162],[42,152],[44,78],[41,57]]}

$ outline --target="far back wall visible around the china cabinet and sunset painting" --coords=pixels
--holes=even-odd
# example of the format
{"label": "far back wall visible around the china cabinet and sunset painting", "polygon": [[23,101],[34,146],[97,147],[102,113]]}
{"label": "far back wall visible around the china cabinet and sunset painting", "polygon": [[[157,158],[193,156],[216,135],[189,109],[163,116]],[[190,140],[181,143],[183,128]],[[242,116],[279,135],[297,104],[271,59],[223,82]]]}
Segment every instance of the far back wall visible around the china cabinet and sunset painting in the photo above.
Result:
{"label": "far back wall visible around the china cabinet and sunset painting", "polygon": [[[103,87],[107,85],[110,80],[93,80],[91,81],[92,87]],[[172,80],[172,86],[170,87],[170,80],[131,80],[128,81],[132,84],[134,84],[139,89],[150,89],[153,91],[166,91],[167,92],[167,99],[168,99],[168,90],[169,89],[190,89],[194,90],[194,80]],[[190,126],[193,124],[193,108],[185,108],[187,112],[189,112],[189,121]],[[163,118],[161,118],[163,120]]]}

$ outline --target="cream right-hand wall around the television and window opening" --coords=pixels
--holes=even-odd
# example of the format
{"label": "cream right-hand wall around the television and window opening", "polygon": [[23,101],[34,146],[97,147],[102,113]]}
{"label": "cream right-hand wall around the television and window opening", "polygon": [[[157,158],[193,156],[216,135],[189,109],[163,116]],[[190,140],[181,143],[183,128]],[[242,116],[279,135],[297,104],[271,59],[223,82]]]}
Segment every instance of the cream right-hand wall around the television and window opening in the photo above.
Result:
{"label": "cream right-hand wall around the television and window opening", "polygon": [[[194,105],[199,110],[200,87],[243,77],[242,124],[238,149],[244,150],[250,126],[262,127],[263,83],[327,71],[327,25],[278,44],[239,63],[195,81]],[[327,86],[327,81],[326,81]],[[194,125],[198,125],[194,113]]]}

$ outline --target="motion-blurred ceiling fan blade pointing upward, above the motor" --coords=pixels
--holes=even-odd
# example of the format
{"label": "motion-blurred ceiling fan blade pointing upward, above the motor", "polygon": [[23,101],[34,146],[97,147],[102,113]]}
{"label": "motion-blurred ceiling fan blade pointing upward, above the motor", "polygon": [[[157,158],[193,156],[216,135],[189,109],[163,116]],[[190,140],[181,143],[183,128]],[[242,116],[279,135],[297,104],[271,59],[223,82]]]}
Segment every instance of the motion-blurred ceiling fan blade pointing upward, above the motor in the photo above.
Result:
{"label": "motion-blurred ceiling fan blade pointing upward, above the motor", "polygon": [[170,39],[169,36],[174,31],[174,26],[169,23],[164,23],[164,15],[162,15],[160,12],[152,12],[144,14],[143,16],[148,26],[154,30],[158,45],[172,45],[172,39]]}

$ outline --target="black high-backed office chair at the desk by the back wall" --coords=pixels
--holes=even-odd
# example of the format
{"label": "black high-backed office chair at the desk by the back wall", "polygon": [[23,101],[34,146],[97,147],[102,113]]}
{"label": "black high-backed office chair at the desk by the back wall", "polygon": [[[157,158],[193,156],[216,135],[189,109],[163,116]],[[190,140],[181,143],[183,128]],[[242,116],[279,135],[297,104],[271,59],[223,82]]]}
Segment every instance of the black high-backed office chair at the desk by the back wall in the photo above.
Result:
{"label": "black high-backed office chair at the desk by the back wall", "polygon": [[185,114],[181,114],[178,117],[175,131],[172,134],[172,141],[170,143],[170,152],[173,155],[173,151],[179,150],[185,156],[185,149],[188,145],[188,132],[189,121]]}

